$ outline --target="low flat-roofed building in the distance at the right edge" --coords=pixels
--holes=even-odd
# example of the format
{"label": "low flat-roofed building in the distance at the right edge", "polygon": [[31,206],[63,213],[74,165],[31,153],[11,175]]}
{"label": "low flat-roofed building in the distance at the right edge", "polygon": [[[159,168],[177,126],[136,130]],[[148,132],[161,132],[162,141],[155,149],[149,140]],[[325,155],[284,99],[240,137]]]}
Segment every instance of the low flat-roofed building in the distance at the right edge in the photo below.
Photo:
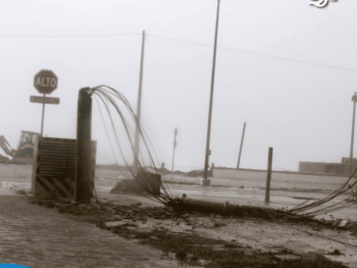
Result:
{"label": "low flat-roofed building in the distance at the right edge", "polygon": [[[350,176],[351,170],[355,171],[357,167],[357,158],[352,160],[352,168],[349,157],[342,157],[341,163],[324,162],[299,162],[299,172],[307,173],[325,173],[332,175]],[[357,177],[357,174],[355,175]]]}

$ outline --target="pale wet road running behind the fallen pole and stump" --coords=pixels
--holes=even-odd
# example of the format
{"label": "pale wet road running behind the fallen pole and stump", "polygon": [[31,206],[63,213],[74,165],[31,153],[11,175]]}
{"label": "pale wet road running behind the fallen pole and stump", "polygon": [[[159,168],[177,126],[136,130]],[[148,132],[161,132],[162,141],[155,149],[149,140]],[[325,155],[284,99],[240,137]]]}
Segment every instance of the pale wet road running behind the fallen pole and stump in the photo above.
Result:
{"label": "pale wet road running behind the fallen pole and stump", "polygon": [[[31,184],[32,165],[2,165],[0,164],[0,183],[7,182],[24,184],[30,187]],[[129,177],[128,172],[122,172],[124,176]],[[118,176],[121,173],[114,170],[98,169],[96,170],[95,184],[98,192],[110,192],[118,182]],[[264,206],[265,190],[260,187],[264,185],[261,180],[239,180],[227,178],[210,178],[210,187],[203,187],[198,185],[202,178],[199,177],[184,177],[175,176],[174,181],[179,183],[191,183],[192,185],[171,184],[171,176],[166,176],[168,183],[164,186],[169,189],[173,196],[181,197],[186,194],[188,198],[203,199],[216,202],[230,202],[239,205]],[[346,179],[347,180],[347,179]],[[270,192],[270,205],[276,208],[292,208],[298,204],[311,199],[313,202],[317,199],[322,199],[332,190],[337,189],[341,180],[332,181],[329,183],[323,182],[291,182],[291,181],[272,181],[272,190]],[[221,186],[219,186],[221,185]],[[297,187],[299,185],[299,187]],[[335,200],[325,204],[330,206],[340,200],[348,197],[348,195],[341,195]],[[357,204],[348,208],[335,211],[326,215],[321,215],[321,218],[350,218],[357,221]]]}

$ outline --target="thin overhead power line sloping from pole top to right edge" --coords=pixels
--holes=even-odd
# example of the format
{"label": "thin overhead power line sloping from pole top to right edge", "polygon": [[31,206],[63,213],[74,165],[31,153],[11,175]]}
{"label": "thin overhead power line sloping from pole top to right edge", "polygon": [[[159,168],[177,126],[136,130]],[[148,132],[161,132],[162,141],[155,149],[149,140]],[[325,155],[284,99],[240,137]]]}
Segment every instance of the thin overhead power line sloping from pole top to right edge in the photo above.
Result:
{"label": "thin overhead power line sloping from pole top to right edge", "polygon": [[[176,41],[176,42],[181,42],[181,43],[188,43],[188,44],[195,44],[195,45],[206,46],[206,47],[213,47],[212,45],[205,44],[205,43],[199,43],[199,42],[194,42],[194,41],[186,41],[186,40],[181,40],[181,39],[176,39],[176,38],[171,38],[171,37],[165,37],[165,36],[159,36],[159,35],[152,35],[152,34],[147,34],[147,35],[155,37],[155,38],[169,40],[169,41]],[[334,65],[329,65],[329,64],[300,61],[300,60],[295,60],[295,59],[290,59],[290,58],[271,56],[271,55],[252,52],[252,51],[247,51],[247,50],[240,50],[240,49],[236,49],[236,48],[229,48],[229,47],[222,47],[222,46],[218,46],[218,48],[219,49],[228,50],[228,51],[234,51],[234,52],[238,52],[238,53],[243,53],[243,54],[250,54],[250,55],[254,55],[254,56],[275,59],[275,60],[281,60],[281,61],[287,61],[287,62],[296,62],[296,63],[302,63],[302,64],[310,64],[310,65],[315,65],[315,66],[320,66],[320,67],[326,67],[326,68],[333,68],[333,69],[339,69],[339,70],[344,70],[344,71],[357,72],[357,69],[334,66]]]}

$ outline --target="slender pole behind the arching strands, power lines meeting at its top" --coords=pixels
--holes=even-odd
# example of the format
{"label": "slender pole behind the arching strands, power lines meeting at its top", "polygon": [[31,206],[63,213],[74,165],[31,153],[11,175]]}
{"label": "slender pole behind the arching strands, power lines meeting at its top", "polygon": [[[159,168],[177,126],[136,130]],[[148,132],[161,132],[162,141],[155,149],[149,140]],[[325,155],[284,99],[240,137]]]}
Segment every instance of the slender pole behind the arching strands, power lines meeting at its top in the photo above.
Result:
{"label": "slender pole behind the arching strands, power lines meeting at its top", "polygon": [[133,162],[134,173],[138,171],[138,164],[139,164],[139,139],[140,139],[139,127],[140,127],[140,113],[141,113],[142,72],[143,72],[143,65],[144,65],[144,45],[145,45],[145,31],[142,31],[137,122],[136,122],[135,144],[134,144],[134,162]]}

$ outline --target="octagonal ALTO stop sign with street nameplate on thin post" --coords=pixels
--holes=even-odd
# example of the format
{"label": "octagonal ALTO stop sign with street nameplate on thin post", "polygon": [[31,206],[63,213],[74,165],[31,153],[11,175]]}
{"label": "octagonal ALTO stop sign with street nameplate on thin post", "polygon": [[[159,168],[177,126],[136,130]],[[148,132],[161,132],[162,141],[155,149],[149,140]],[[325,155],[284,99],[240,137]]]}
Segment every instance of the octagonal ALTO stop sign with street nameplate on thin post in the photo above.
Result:
{"label": "octagonal ALTO stop sign with street nameplate on thin post", "polygon": [[[43,94],[40,137],[42,137],[42,133],[43,133],[43,118],[44,118],[44,106],[46,103],[46,94],[51,94],[57,88],[57,84],[58,84],[58,78],[51,70],[40,70],[40,72],[38,72],[34,76],[34,87],[37,89],[37,91],[39,91],[40,94]],[[32,102],[31,101],[32,97],[36,98],[36,96],[31,96],[30,102]],[[58,104],[58,103],[53,103],[53,104]]]}

